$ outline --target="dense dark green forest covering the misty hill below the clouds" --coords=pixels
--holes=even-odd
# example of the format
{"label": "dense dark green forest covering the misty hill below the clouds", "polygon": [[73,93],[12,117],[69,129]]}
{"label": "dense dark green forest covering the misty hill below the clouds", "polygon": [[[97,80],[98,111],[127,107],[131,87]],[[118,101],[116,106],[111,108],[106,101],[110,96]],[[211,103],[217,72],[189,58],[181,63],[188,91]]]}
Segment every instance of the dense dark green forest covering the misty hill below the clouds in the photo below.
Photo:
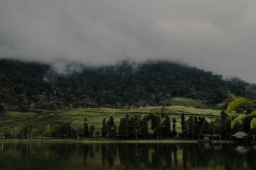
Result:
{"label": "dense dark green forest covering the misty hill below the clouds", "polygon": [[243,97],[247,90],[256,90],[255,84],[239,78],[224,80],[221,75],[168,61],[68,67],[63,74],[49,64],[1,59],[1,111],[170,106],[172,97],[189,97],[214,108],[227,98],[227,92]]}

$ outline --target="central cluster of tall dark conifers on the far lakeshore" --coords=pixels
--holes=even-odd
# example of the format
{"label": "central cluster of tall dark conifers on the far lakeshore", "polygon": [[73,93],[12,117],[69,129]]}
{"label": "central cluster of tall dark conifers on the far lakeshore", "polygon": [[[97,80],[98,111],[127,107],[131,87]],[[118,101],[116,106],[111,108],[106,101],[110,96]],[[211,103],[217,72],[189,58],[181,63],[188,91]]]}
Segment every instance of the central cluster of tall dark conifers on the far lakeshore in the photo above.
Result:
{"label": "central cluster of tall dark conifers on the far lakeshore", "polygon": [[[152,134],[148,131],[148,122],[151,123]],[[140,115],[136,114],[132,117],[126,115],[121,118],[118,129],[113,117],[111,116],[106,122],[106,118],[102,122],[102,138],[116,138],[118,136],[123,139],[138,139],[138,138],[171,138],[175,137],[176,132],[176,120],[173,118],[173,131],[171,129],[171,122],[169,116],[166,114],[164,122],[161,123],[159,115],[150,114],[141,118]],[[117,132],[118,130],[118,132]]]}

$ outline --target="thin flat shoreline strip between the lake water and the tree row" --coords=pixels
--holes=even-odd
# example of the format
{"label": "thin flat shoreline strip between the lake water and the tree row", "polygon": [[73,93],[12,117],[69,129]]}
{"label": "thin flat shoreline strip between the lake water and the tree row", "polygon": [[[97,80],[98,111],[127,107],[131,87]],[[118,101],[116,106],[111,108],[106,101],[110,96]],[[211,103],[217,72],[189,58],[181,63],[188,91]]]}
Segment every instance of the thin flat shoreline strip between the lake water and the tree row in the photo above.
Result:
{"label": "thin flat shoreline strip between the lake water and the tree row", "polygon": [[[0,143],[202,143],[198,140],[76,140],[76,139],[1,139]],[[235,141],[211,141],[206,143],[235,143]]]}

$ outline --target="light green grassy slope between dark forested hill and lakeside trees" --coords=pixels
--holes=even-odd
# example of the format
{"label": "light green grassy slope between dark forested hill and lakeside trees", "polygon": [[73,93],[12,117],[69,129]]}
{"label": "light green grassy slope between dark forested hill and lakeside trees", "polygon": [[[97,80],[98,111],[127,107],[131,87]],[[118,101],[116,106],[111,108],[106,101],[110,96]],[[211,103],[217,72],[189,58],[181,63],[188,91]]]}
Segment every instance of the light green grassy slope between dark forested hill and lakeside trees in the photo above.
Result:
{"label": "light green grassy slope between dark forested hill and lakeside trees", "polygon": [[[113,115],[115,124],[119,125],[120,118],[125,117],[126,113],[129,115],[139,113],[141,117],[144,117],[149,113],[161,114],[161,108],[162,107],[159,106],[134,108],[130,110],[91,108],[85,110],[74,109],[70,111],[46,111],[45,113],[6,112],[5,115],[2,115],[0,118],[0,135],[3,135],[4,132],[10,132],[14,136],[15,131],[19,132],[22,127],[31,124],[36,131],[36,135],[40,136],[47,124],[50,124],[51,127],[56,124],[56,122],[79,121],[83,124],[84,117],[87,117],[89,127],[90,125],[94,125],[96,131],[100,131],[102,126],[101,122],[104,117],[108,120],[109,116]],[[52,118],[50,117],[51,113],[53,114]],[[186,106],[168,106],[166,107],[166,111],[164,111],[164,113],[169,113],[171,120],[173,117],[176,118],[176,127],[178,132],[180,131],[180,114],[182,113],[186,115],[186,118],[188,118],[189,115],[204,115],[209,121],[220,116],[220,110],[196,109]]]}

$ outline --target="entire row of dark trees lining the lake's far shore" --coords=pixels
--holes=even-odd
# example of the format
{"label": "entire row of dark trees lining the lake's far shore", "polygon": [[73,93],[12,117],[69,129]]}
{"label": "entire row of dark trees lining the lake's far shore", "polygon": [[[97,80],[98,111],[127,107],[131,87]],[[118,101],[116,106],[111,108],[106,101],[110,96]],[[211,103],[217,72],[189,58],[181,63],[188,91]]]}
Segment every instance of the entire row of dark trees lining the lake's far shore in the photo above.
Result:
{"label": "entire row of dark trees lining the lake's far shore", "polygon": [[[251,113],[247,108],[246,113]],[[230,117],[232,116],[232,118]],[[221,111],[221,117],[214,118],[211,122],[205,117],[189,116],[185,119],[184,113],[180,117],[181,132],[176,131],[177,120],[175,117],[170,120],[168,114],[149,114],[141,117],[135,114],[129,117],[127,114],[120,119],[117,126],[114,117],[108,120],[103,118],[101,128],[101,138],[122,138],[122,139],[164,139],[164,138],[183,138],[183,139],[202,139],[205,136],[216,136],[220,139],[230,139],[230,135],[238,131],[244,131],[250,135],[255,134],[255,130],[250,129],[252,118],[246,117],[231,129],[230,122],[235,115],[227,115]],[[20,132],[15,132],[15,138],[33,138],[35,128],[32,125],[22,127]],[[95,127],[88,127],[87,118],[84,118],[83,124],[78,121],[60,122],[58,124],[47,125],[43,132],[45,137],[54,138],[99,138],[100,132],[95,132]]]}

